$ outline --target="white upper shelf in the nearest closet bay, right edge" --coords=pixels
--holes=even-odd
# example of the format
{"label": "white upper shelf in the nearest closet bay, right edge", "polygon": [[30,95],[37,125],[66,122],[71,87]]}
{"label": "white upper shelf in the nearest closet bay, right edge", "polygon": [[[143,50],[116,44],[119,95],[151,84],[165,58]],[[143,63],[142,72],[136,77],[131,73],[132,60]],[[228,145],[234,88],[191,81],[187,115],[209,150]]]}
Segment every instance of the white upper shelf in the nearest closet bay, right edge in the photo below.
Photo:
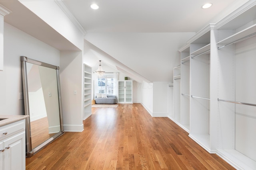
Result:
{"label": "white upper shelf in the nearest closet bay, right edge", "polygon": [[234,35],[231,35],[230,37],[227,37],[223,39],[222,41],[219,41],[217,44],[222,44],[222,47],[219,47],[218,49],[221,49],[223,47],[226,47],[230,44],[238,43],[240,41],[243,41],[245,39],[248,39],[250,37],[253,37],[256,35],[256,24],[239,31],[238,33],[235,33]]}

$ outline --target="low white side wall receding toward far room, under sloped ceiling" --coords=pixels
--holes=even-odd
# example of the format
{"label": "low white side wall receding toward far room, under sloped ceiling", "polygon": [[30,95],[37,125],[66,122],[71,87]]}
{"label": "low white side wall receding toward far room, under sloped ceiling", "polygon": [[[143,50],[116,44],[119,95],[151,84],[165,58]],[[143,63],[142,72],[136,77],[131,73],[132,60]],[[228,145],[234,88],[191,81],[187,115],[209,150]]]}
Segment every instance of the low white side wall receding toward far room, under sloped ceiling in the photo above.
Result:
{"label": "low white side wall receding toward far room, under sloped ceiling", "polygon": [[142,100],[141,104],[152,115],[153,113],[153,83],[143,82],[141,86]]}

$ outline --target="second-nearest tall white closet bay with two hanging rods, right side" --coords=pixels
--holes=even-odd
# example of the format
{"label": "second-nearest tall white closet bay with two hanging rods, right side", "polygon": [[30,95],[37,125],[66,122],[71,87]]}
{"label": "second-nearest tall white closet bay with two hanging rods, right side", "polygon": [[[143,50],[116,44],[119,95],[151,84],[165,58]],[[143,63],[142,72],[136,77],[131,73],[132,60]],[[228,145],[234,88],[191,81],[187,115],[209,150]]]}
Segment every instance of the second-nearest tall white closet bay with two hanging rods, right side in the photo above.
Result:
{"label": "second-nearest tall white closet bay with two hanging rods, right side", "polygon": [[190,43],[190,56],[189,136],[210,152],[210,30]]}

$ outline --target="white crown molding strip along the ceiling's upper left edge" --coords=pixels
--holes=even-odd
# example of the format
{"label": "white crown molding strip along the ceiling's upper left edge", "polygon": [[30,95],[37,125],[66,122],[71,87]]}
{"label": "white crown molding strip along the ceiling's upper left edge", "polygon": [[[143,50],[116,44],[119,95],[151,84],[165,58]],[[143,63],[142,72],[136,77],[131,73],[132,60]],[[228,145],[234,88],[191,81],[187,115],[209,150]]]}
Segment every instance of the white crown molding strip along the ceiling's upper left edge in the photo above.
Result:
{"label": "white crown molding strip along the ceiling's upper left edge", "polygon": [[76,25],[76,27],[79,29],[79,31],[81,31],[81,33],[86,35],[86,31],[84,30],[82,25],[78,22],[78,20],[76,20],[74,15],[70,12],[70,10],[66,6],[65,2],[63,0],[54,0],[54,1],[56,2],[56,4],[58,4],[60,9],[62,9],[62,11],[68,16],[68,18]]}

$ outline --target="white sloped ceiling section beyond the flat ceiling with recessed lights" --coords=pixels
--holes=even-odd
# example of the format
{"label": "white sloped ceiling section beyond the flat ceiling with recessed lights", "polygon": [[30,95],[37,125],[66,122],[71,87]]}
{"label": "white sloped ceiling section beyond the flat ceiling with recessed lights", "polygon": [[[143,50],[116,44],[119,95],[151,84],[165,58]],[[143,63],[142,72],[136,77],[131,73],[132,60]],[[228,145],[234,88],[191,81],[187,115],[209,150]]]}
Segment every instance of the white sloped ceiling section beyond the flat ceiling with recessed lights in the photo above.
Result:
{"label": "white sloped ceiling section beyond the flat ceiling with recessed lights", "polygon": [[[117,60],[138,73],[142,80],[154,82],[172,81],[172,69],[180,64],[178,49],[194,34],[87,33],[85,39],[109,56],[108,64]],[[126,68],[118,69],[130,72]]]}

